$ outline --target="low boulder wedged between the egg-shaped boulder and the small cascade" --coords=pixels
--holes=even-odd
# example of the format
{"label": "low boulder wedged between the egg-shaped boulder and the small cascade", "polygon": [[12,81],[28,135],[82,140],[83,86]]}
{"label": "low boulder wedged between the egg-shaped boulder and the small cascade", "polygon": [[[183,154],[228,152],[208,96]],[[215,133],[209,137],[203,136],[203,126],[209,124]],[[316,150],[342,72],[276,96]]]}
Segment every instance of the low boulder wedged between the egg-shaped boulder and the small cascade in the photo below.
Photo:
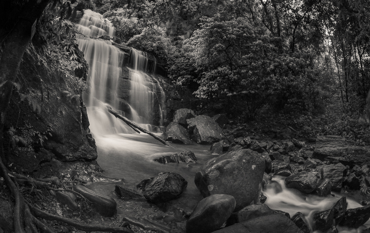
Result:
{"label": "low boulder wedged between the egg-shaped boulder and the small cascade", "polygon": [[235,223],[245,222],[259,216],[272,215],[273,213],[274,211],[266,204],[249,205],[238,212],[232,213],[226,224],[231,226]]}

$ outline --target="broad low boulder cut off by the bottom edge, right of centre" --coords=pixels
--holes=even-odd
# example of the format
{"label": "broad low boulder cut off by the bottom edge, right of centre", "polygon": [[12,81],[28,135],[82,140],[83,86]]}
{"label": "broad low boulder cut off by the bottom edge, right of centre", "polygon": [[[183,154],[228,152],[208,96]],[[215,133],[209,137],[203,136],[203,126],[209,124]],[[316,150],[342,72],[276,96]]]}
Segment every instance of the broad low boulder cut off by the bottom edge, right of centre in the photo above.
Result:
{"label": "broad low boulder cut off by the bottom edge, right of centre", "polygon": [[303,233],[282,213],[260,216],[213,233]]}

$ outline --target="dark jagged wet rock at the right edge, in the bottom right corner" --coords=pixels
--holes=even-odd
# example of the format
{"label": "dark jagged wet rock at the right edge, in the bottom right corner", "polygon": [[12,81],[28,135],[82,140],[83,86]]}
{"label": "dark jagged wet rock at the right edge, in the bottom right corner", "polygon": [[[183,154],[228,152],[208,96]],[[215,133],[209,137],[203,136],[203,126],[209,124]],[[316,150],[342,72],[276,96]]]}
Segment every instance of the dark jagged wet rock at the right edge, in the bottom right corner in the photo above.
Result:
{"label": "dark jagged wet rock at the right edge, in the bottom right corner", "polygon": [[347,209],[344,218],[339,225],[350,228],[359,228],[370,218],[370,205],[359,208]]}

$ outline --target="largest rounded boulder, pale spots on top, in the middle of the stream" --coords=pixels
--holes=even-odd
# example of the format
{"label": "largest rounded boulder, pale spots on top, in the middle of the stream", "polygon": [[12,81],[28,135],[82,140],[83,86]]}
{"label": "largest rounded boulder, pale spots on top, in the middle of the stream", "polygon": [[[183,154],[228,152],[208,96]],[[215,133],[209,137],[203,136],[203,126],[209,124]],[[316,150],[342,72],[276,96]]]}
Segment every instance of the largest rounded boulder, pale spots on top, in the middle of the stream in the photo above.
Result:
{"label": "largest rounded boulder, pale spots on top, in the middle of the stream", "polygon": [[195,185],[203,197],[232,195],[239,211],[258,202],[264,171],[265,161],[257,152],[235,150],[208,160],[195,174]]}

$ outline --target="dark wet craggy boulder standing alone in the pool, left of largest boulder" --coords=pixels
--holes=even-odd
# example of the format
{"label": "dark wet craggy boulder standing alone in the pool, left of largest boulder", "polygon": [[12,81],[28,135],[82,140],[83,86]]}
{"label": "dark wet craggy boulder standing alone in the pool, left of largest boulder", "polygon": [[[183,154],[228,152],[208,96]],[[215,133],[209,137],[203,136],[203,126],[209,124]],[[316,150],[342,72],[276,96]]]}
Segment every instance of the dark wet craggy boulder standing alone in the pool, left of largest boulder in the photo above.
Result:
{"label": "dark wet craggy boulder standing alone in the pool, left of largest boulder", "polygon": [[174,172],[162,172],[154,177],[142,180],[136,187],[150,202],[165,202],[177,198],[188,182]]}

